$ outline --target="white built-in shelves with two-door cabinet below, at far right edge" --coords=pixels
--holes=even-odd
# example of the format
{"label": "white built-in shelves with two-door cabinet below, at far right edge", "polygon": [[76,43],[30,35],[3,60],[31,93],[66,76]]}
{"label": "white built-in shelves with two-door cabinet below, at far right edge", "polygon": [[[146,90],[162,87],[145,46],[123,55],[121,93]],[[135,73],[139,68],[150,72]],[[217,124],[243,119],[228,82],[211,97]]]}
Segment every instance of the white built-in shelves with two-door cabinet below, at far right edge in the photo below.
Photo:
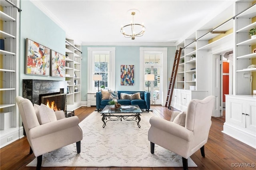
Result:
{"label": "white built-in shelves with two-door cabinet below, at far right edge", "polygon": [[233,94],[226,95],[226,120],[222,132],[256,148],[256,98],[250,86],[250,77],[256,68],[248,68],[255,64],[252,59],[256,58],[256,53],[253,53],[256,38],[248,34],[256,27],[256,4],[255,1],[237,1],[235,7],[235,75]]}

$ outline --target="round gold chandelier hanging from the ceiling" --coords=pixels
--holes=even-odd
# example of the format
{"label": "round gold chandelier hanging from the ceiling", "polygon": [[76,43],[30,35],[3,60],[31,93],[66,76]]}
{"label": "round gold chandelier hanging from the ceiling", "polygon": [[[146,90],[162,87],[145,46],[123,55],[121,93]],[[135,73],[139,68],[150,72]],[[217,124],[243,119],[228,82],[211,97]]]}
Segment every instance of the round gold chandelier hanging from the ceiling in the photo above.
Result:
{"label": "round gold chandelier hanging from the ceiling", "polygon": [[[132,22],[131,24],[128,24],[126,26],[123,26],[120,30],[120,32],[124,35],[125,38],[132,38],[132,40],[135,39],[135,37],[141,37],[143,36],[144,32],[145,32],[145,27],[144,25],[142,24],[134,24],[134,21],[133,21],[133,17],[135,15],[135,12],[132,12]],[[131,32],[129,33],[126,33],[124,31],[124,28],[125,27],[128,27],[130,26],[131,27]]]}

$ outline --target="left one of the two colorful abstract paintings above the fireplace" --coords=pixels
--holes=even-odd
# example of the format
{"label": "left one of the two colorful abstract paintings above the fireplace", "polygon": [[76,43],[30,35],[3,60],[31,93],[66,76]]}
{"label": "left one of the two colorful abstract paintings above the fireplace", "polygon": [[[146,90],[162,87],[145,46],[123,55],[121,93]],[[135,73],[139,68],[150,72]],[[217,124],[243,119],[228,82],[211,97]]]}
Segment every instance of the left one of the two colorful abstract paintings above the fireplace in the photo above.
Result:
{"label": "left one of the two colorful abstract paintings above the fireplace", "polygon": [[26,39],[26,74],[50,75],[50,48]]}

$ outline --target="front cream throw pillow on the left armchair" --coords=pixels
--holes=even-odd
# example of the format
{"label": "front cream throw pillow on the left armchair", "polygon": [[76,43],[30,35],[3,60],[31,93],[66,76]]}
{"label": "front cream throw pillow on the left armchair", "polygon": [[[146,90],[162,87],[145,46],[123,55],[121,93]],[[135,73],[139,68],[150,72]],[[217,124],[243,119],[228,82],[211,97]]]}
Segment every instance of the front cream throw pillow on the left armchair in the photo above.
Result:
{"label": "front cream throw pillow on the left armchair", "polygon": [[41,104],[36,112],[36,116],[40,125],[57,121],[54,111],[48,106]]}

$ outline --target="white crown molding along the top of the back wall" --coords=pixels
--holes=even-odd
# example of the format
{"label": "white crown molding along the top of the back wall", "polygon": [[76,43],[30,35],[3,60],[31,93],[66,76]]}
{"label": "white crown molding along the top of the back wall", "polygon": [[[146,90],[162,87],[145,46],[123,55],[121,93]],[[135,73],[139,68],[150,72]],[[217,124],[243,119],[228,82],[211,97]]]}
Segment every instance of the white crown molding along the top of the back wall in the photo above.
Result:
{"label": "white crown molding along the top of the back wall", "polygon": [[82,42],[81,45],[177,46],[176,43],[164,43],[164,42]]}

